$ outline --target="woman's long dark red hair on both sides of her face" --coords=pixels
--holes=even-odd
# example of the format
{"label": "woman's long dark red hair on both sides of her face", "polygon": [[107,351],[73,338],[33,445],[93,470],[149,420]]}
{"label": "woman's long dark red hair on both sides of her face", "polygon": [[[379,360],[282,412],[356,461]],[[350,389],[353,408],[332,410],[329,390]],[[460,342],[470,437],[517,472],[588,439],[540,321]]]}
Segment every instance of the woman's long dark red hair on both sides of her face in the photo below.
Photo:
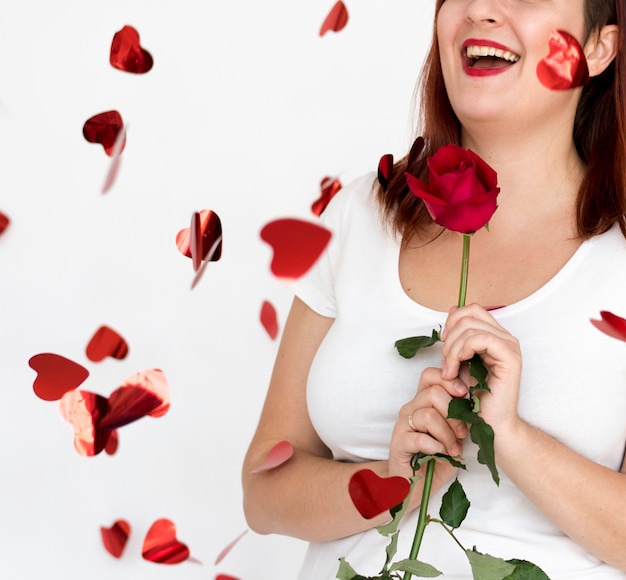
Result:
{"label": "woman's long dark red hair on both sides of her face", "polygon": [[[418,84],[419,125],[424,145],[419,155],[398,161],[377,195],[384,217],[406,239],[432,223],[423,202],[406,184],[405,171],[428,181],[426,161],[442,146],[460,145],[461,124],[443,81],[436,20],[445,0],[437,0],[433,41]],[[623,0],[585,0],[587,36],[617,24],[617,56],[584,87],[574,122],[574,142],[587,170],[578,192],[577,227],[582,239],[618,223],[626,237],[626,5]]]}

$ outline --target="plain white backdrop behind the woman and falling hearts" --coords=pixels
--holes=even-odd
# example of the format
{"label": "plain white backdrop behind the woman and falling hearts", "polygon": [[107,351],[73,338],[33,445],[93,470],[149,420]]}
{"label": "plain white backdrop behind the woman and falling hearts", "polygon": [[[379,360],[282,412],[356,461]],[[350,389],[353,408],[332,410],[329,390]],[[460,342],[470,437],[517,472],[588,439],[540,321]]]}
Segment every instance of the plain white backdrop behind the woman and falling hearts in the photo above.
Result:
{"label": "plain white backdrop behind the woman and falling hearts", "polygon": [[[260,229],[315,220],[325,176],[345,184],[412,140],[415,79],[433,0],[346,0],[346,28],[319,36],[334,0],[3,0],[0,3],[0,578],[292,580],[304,543],[248,533],[240,469],[291,301]],[[109,64],[115,32],[135,27],[154,68]],[[110,159],[82,126],[116,109],[128,124],[113,189]],[[221,218],[224,242],[200,284],[175,244],[193,211]],[[123,361],[85,347],[109,325]],[[161,368],[167,415],[120,429],[113,456],[73,447],[58,403],[35,396],[31,356],[90,371],[108,396]],[[132,526],[117,560],[100,526]],[[159,518],[202,564],[141,557]]]}

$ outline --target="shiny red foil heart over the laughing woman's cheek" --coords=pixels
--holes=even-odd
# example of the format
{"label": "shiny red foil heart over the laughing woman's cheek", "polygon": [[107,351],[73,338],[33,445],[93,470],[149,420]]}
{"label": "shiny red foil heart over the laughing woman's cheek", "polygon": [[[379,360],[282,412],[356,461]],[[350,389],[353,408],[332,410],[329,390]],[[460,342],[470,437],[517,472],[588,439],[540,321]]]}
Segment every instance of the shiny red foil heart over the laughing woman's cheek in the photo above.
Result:
{"label": "shiny red foil heart over the laughing woman's cheek", "polygon": [[553,91],[566,91],[587,84],[589,68],[578,40],[569,32],[555,30],[548,42],[550,54],[537,65],[541,84]]}

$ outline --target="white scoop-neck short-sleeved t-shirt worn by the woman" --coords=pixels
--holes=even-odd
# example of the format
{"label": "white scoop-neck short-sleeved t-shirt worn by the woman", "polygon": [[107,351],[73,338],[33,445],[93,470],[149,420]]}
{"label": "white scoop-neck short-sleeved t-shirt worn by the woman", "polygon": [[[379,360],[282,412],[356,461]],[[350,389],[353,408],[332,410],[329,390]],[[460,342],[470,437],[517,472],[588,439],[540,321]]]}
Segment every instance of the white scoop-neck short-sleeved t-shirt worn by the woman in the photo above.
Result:
{"label": "white scoop-neck short-sleeved t-shirt worn by the woman", "polygon": [[[322,215],[331,243],[294,286],[316,312],[335,318],[313,362],[307,401],[315,429],[340,461],[387,459],[400,407],[414,396],[422,369],[441,360],[440,345],[409,360],[394,348],[400,338],[430,335],[446,313],[405,294],[399,241],[380,219],[374,180],[367,174],[333,199]],[[459,268],[460,259],[459,251]],[[619,228],[584,242],[545,286],[493,315],[521,343],[520,416],[617,471],[626,446],[626,344],[589,322],[601,310],[626,316],[626,241]],[[467,471],[459,472],[459,481],[471,507],[456,535],[466,548],[534,562],[552,580],[626,578],[565,536],[502,472],[497,487],[477,463],[469,438],[464,460]],[[519,461],[530,465],[532,450]],[[585,474],[580,477],[582,485]],[[433,516],[445,491],[431,497]],[[408,557],[416,519],[416,512],[405,517],[396,559]],[[342,556],[359,574],[378,574],[387,543],[376,530],[313,543],[299,580],[335,578]],[[472,577],[465,554],[437,524],[427,527],[419,559],[448,580]]]}

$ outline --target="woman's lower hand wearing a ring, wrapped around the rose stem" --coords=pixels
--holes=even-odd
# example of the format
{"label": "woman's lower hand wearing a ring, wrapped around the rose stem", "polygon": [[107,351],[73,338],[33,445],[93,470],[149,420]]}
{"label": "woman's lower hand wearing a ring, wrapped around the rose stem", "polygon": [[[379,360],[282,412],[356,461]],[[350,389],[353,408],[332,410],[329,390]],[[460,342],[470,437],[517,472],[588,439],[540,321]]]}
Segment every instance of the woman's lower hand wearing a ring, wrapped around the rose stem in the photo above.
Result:
{"label": "woman's lower hand wearing a ring, wrapped around the rose stem", "polygon": [[[420,451],[426,455],[462,455],[467,426],[447,416],[452,398],[465,395],[467,386],[460,379],[444,380],[439,368],[424,370],[415,397],[398,414],[389,450],[390,476],[411,477],[411,458]],[[443,485],[455,472],[447,461],[438,461],[435,485]]]}

